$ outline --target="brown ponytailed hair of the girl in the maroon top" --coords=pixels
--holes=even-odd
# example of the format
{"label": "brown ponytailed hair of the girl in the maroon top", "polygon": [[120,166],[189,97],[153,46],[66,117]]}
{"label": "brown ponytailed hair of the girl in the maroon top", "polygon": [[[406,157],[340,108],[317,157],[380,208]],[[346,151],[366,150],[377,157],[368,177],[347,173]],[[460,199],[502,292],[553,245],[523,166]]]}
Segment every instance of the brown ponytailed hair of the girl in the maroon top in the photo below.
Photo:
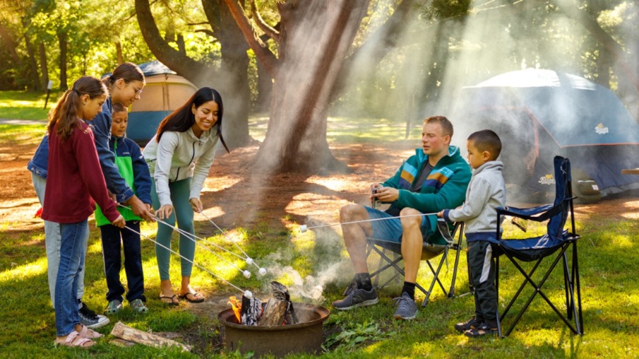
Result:
{"label": "brown ponytailed hair of the girl in the maroon top", "polygon": [[63,93],[56,106],[49,111],[49,134],[56,128],[56,134],[62,141],[70,137],[82,118],[82,95],[89,95],[91,99],[97,96],[108,97],[109,91],[100,79],[93,76],[82,76],[75,80],[73,86]]}

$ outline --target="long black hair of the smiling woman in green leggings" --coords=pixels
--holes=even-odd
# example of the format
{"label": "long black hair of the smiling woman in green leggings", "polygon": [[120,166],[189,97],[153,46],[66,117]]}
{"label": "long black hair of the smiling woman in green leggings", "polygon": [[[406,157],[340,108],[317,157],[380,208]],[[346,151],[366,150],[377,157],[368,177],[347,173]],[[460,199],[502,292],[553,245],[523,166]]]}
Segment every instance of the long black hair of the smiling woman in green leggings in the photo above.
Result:
{"label": "long black hair of the smiling woman in green leggings", "polygon": [[158,126],[155,141],[160,142],[160,137],[162,137],[162,134],[166,131],[186,132],[189,130],[189,128],[191,128],[196,122],[196,116],[191,111],[191,107],[195,106],[197,109],[197,107],[200,107],[203,103],[209,101],[215,101],[218,107],[217,123],[215,123],[217,131],[215,132],[215,135],[220,137],[220,141],[222,141],[222,145],[226,149],[226,152],[231,153],[228,146],[226,146],[226,142],[224,142],[224,137],[222,137],[222,115],[224,114],[222,96],[220,96],[220,93],[212,88],[201,88],[197,90],[196,93],[189,98],[187,103],[173,111],[173,113],[169,114],[169,116],[166,116],[166,118],[164,118]]}

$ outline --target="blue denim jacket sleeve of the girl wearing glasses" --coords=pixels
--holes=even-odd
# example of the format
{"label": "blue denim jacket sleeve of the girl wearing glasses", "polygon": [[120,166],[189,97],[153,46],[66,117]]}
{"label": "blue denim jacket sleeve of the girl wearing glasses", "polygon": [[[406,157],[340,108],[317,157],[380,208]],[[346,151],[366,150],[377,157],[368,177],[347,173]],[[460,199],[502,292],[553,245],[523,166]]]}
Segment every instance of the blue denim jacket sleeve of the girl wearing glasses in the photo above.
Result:
{"label": "blue denim jacket sleeve of the girl wearing glasses", "polygon": [[133,190],[128,187],[127,181],[119,174],[118,166],[115,162],[115,155],[109,149],[109,139],[111,139],[111,98],[107,98],[102,105],[100,112],[89,125],[95,136],[95,148],[100,158],[100,166],[104,179],[107,182],[109,192],[116,195],[117,202],[125,202],[133,197]]}

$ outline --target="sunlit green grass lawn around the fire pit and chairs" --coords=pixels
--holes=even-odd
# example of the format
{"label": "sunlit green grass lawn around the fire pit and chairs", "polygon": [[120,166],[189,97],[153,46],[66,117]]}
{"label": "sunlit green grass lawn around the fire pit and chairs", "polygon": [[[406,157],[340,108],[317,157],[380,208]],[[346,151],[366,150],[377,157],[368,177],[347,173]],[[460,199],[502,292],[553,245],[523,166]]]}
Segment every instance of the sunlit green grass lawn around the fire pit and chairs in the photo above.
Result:
{"label": "sunlit green grass lawn around the fire pit and chairs", "polygon": [[[0,109],[5,107],[0,92]],[[19,94],[17,94],[19,95]],[[12,95],[13,97],[17,95]],[[51,101],[51,100],[50,100]],[[43,105],[43,103],[42,103]],[[25,105],[25,107],[29,107]],[[36,106],[37,107],[37,106]],[[41,106],[42,107],[42,106]],[[0,112],[0,118],[4,118]],[[17,118],[17,117],[13,117]],[[331,119],[331,146],[340,146],[352,142],[387,141],[392,124],[384,125],[383,131],[367,132],[357,135],[362,128],[353,125],[353,119]],[[364,121],[364,120],[362,120]],[[43,132],[43,126],[0,126],[0,148],[10,149],[17,144],[36,144]],[[399,128],[396,141],[403,141],[403,130]],[[366,127],[364,127],[366,128]],[[254,137],[263,134],[263,130],[253,133]],[[261,131],[261,132],[259,132]],[[418,131],[415,131],[418,132]],[[380,135],[383,133],[383,136]],[[410,141],[419,141],[413,134]],[[0,157],[2,160],[2,157]],[[31,199],[28,199],[31,201]],[[4,208],[25,206],[27,199],[6,201],[0,198]],[[601,208],[613,204],[613,210]],[[334,213],[336,208],[326,208]],[[279,280],[291,288],[312,291],[313,287],[304,287],[312,280],[325,277],[335,278],[323,282],[321,298],[318,303],[329,310],[330,316],[324,324],[327,335],[325,344],[329,347],[317,356],[291,355],[289,358],[415,358],[430,356],[433,358],[633,358],[639,356],[639,250],[636,240],[639,238],[639,198],[627,197],[606,199],[600,204],[578,205],[581,294],[583,305],[583,336],[573,335],[558,319],[556,314],[537,296],[514,332],[505,339],[496,336],[481,339],[468,339],[455,332],[452,326],[472,316],[474,304],[472,296],[461,296],[449,300],[436,287],[426,308],[420,308],[413,321],[393,321],[392,298],[397,296],[401,284],[381,289],[380,303],[346,312],[333,310],[332,301],[342,297],[342,292],[352,275],[348,267],[348,254],[343,247],[339,234],[333,230],[308,231],[300,233],[295,225],[284,227],[272,223],[259,222],[245,226],[237,224],[224,228],[228,236],[238,241],[250,257],[261,266],[269,268],[268,280]],[[238,352],[229,353],[221,348],[220,323],[217,310],[197,310],[196,305],[181,303],[179,307],[169,308],[160,303],[155,296],[158,293],[158,273],[155,250],[150,240],[142,240],[142,261],[144,266],[146,291],[149,297],[148,314],[135,314],[125,303],[124,309],[111,317],[111,323],[98,332],[107,335],[98,340],[98,344],[89,349],[55,348],[56,335],[54,311],[50,307],[47,286],[47,259],[44,249],[42,222],[33,218],[22,220],[10,215],[0,216],[0,291],[4,293],[3,315],[0,316],[0,356],[4,358],[243,358]],[[287,220],[288,218],[282,218]],[[302,223],[299,223],[302,224]],[[88,255],[86,257],[86,290],[84,301],[89,307],[102,312],[106,305],[106,289],[99,231],[93,222],[89,223]],[[155,238],[156,224],[142,224],[142,234]],[[518,229],[506,224],[505,229],[514,235],[521,235]],[[529,231],[540,231],[531,227]],[[210,233],[206,241],[233,249],[225,236],[212,230],[206,220],[196,221],[196,233]],[[175,240],[174,245],[177,243]],[[237,257],[222,254],[225,261],[211,252],[198,250],[196,260],[204,268],[213,269],[216,275],[230,280],[241,288],[265,289],[265,280],[256,276],[245,279],[231,264],[245,268],[246,264]],[[377,263],[371,259],[370,264]],[[466,256],[461,253],[456,293],[468,291],[466,276]],[[346,264],[346,266],[344,266]],[[171,277],[180,276],[180,263],[172,256]],[[372,267],[371,267],[372,268]],[[449,267],[442,269],[444,286],[450,285],[452,261]],[[539,270],[543,272],[543,268]],[[333,273],[334,272],[334,273]],[[559,310],[562,305],[563,280],[560,268],[548,279],[544,288],[554,300]],[[332,275],[332,276],[331,276]],[[124,271],[121,272],[123,279]],[[429,284],[431,275],[426,266],[422,266],[419,281]],[[237,291],[227,286],[206,271],[194,268],[192,282],[205,293],[224,296],[237,295]],[[500,271],[500,309],[514,294],[521,282],[512,265],[502,261]],[[266,281],[268,283],[268,281]],[[300,284],[301,283],[301,284]],[[176,287],[174,282],[174,287]],[[264,291],[263,293],[266,293]],[[291,289],[291,293],[293,290]],[[530,289],[524,291],[524,296]],[[261,298],[268,298],[264,294]],[[417,294],[417,301],[423,300],[423,294]],[[302,301],[300,298],[294,298]],[[307,301],[307,300],[304,300]],[[207,301],[208,302],[208,301]],[[222,303],[225,304],[225,303]],[[518,302],[516,307],[521,307]],[[204,307],[208,308],[208,307]],[[505,319],[504,325],[513,320]],[[122,321],[139,330],[158,332],[176,332],[177,340],[187,342],[196,350],[181,353],[178,349],[156,349],[141,345],[121,347],[112,344],[113,325]]]}

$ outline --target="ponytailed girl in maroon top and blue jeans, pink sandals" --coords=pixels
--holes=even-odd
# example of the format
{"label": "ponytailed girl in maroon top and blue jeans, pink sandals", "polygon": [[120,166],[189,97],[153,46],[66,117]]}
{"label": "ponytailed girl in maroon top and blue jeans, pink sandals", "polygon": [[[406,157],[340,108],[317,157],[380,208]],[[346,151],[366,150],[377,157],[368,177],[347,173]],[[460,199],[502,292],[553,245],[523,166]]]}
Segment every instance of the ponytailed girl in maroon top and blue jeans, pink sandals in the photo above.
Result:
{"label": "ponytailed girl in maroon top and blue jeans, pink sandals", "polygon": [[56,279],[56,344],[88,347],[102,337],[80,324],[77,305],[78,274],[84,267],[87,220],[94,199],[113,225],[123,228],[124,218],[109,197],[93,142],[91,121],[107,99],[100,80],[84,76],[73,83],[49,113],[49,171],[42,219],[58,222],[61,246]]}

